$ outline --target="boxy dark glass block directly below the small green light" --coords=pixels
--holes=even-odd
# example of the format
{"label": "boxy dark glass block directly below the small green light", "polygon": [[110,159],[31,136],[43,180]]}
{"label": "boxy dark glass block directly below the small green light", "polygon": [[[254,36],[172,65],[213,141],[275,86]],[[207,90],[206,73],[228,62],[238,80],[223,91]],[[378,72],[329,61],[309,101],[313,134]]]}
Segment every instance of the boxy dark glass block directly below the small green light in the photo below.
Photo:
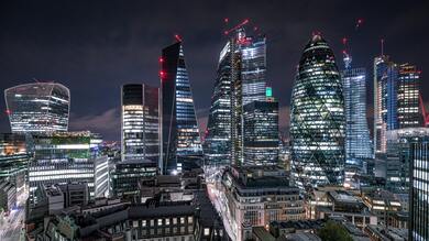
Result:
{"label": "boxy dark glass block directly below the small green light", "polygon": [[244,106],[243,165],[278,164],[278,102],[252,101]]}

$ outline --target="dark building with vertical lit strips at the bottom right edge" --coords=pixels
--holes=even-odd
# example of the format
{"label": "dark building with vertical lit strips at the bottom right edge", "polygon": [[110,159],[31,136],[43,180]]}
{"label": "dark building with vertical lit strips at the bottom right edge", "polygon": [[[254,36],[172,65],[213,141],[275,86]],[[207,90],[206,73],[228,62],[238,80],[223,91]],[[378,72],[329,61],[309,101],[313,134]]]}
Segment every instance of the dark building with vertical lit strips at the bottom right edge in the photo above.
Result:
{"label": "dark building with vertical lit strips at the bottom right edge", "polygon": [[429,240],[429,138],[410,141],[409,240]]}

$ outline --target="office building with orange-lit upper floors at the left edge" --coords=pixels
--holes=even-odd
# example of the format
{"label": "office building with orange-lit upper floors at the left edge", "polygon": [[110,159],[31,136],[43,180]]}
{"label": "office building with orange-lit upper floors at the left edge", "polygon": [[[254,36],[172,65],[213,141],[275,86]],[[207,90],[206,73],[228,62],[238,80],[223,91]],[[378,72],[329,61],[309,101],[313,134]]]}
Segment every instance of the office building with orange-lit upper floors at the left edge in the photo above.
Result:
{"label": "office building with orange-lit upper floors at the left edge", "polygon": [[21,193],[30,160],[28,139],[24,134],[0,133],[0,179],[6,179]]}

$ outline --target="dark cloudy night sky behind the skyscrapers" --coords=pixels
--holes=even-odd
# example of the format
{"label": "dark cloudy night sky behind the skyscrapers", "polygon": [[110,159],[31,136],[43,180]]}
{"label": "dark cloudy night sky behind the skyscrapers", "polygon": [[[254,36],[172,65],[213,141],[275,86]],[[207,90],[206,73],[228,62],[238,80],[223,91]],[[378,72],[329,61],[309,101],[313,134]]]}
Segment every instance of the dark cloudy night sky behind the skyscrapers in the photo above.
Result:
{"label": "dark cloudy night sky behind the skyscrapers", "polygon": [[[287,130],[296,65],[314,31],[320,31],[342,68],[341,40],[349,37],[354,67],[366,67],[384,51],[396,63],[422,70],[429,102],[428,1],[1,1],[0,89],[57,81],[70,89],[70,130],[100,132],[120,140],[120,86],[158,86],[161,50],[184,40],[200,129],[207,121],[222,35],[250,19],[267,36],[267,83],[280,101]],[[363,24],[356,28],[359,19]],[[369,89],[371,100],[371,88]],[[0,132],[10,132],[0,101]],[[371,109],[369,112],[371,114]]]}

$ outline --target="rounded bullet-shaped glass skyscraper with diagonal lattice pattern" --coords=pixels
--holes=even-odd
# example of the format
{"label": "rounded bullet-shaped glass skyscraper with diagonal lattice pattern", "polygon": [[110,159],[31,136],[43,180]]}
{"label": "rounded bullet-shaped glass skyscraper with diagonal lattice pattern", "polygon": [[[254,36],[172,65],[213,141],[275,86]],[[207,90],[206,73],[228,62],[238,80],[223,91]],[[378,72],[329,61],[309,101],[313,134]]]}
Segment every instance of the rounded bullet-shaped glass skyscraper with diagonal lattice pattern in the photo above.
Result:
{"label": "rounded bullet-shaped glass skyscraper with diagonal lattice pattern", "polygon": [[301,188],[342,184],[345,116],[336,58],[314,34],[299,62],[292,96],[293,177]]}

